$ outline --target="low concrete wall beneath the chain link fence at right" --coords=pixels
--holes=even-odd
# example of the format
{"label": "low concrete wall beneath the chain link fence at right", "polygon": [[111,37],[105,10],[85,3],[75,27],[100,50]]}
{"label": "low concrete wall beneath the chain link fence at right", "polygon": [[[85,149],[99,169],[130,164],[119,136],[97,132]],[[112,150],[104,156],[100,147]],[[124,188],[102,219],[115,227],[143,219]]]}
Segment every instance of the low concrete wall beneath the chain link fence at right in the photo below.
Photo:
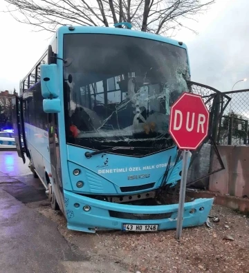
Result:
{"label": "low concrete wall beneath the chain link fence at right", "polygon": [[[210,176],[209,190],[249,198],[249,147],[248,146],[217,146],[225,170]],[[217,164],[212,162],[213,168]]]}

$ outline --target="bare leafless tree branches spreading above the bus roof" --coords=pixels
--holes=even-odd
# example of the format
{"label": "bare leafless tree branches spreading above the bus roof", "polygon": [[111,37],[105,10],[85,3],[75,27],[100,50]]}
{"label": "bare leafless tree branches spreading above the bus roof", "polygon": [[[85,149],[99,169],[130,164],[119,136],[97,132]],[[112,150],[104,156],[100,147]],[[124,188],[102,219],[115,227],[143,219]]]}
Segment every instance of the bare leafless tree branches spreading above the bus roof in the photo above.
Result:
{"label": "bare leafless tree branches spreading above the bus roof", "polygon": [[[215,0],[4,0],[21,23],[55,32],[68,24],[106,26],[129,22],[136,30],[172,36],[183,19],[194,20]],[[186,20],[185,20],[186,21]],[[190,28],[188,28],[190,29]],[[194,31],[194,30],[192,30]]]}

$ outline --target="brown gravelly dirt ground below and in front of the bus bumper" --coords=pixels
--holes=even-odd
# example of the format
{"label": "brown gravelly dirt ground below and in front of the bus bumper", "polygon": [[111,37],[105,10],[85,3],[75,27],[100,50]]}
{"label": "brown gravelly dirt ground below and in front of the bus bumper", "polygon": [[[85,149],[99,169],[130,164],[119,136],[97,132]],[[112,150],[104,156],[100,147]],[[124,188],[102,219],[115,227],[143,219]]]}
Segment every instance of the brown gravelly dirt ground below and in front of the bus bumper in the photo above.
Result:
{"label": "brown gravelly dirt ground below and in front of the bus bumper", "polygon": [[249,273],[249,219],[219,205],[214,205],[210,212],[219,222],[210,218],[212,228],[186,228],[180,241],[174,239],[176,230],[144,234],[73,232],[67,230],[64,217],[48,204],[40,204],[37,210],[57,222],[64,238],[75,249],[94,256],[96,263],[114,261],[135,273]]}

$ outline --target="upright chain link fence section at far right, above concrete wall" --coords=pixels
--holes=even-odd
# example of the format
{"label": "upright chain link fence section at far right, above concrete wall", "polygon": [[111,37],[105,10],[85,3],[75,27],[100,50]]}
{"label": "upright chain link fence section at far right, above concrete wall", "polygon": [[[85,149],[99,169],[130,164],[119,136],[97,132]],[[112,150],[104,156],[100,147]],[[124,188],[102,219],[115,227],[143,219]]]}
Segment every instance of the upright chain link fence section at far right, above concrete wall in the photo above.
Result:
{"label": "upright chain link fence section at far right, above concrete wall", "polygon": [[219,145],[249,145],[249,90],[224,92],[230,98],[219,121]]}

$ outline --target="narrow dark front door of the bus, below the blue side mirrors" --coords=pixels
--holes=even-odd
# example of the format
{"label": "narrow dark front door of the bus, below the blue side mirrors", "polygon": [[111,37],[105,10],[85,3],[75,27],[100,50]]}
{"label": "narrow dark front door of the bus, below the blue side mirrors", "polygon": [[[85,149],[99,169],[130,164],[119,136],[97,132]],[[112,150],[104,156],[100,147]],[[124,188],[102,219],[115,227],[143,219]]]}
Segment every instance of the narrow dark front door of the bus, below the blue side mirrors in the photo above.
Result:
{"label": "narrow dark front door of the bus, below the blue side mirrors", "polygon": [[58,119],[57,114],[48,114],[48,142],[51,172],[53,177],[52,190],[55,193],[60,210],[65,214],[57,119]]}

